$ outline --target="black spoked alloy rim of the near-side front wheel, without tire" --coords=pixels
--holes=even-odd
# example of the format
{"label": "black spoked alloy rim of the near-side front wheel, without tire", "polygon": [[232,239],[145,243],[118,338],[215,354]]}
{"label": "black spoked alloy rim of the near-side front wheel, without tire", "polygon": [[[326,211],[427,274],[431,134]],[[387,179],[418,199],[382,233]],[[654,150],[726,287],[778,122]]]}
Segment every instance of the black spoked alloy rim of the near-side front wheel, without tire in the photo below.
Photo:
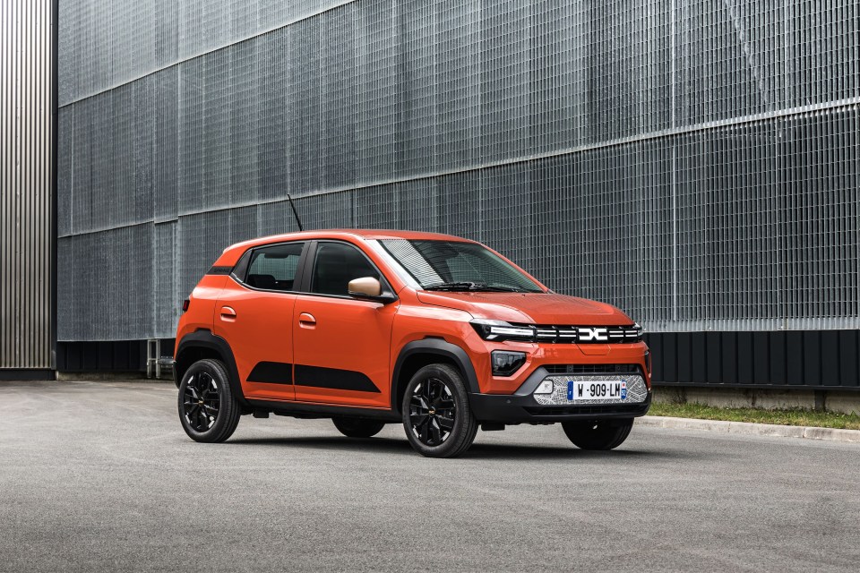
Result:
{"label": "black spoked alloy rim of the near-side front wheel, without tire", "polygon": [[415,387],[409,398],[409,423],[415,437],[426,446],[438,446],[451,435],[457,404],[451,389],[437,378]]}

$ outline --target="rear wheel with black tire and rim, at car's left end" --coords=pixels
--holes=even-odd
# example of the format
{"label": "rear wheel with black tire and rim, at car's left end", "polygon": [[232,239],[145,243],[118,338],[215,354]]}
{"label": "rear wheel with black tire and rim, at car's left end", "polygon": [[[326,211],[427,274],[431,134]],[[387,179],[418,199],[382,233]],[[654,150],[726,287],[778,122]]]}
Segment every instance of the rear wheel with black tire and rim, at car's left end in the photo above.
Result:
{"label": "rear wheel with black tire and rim, at car's left end", "polygon": [[220,442],[236,432],[242,415],[224,363],[206,358],[191,365],[179,384],[179,421],[194,441]]}

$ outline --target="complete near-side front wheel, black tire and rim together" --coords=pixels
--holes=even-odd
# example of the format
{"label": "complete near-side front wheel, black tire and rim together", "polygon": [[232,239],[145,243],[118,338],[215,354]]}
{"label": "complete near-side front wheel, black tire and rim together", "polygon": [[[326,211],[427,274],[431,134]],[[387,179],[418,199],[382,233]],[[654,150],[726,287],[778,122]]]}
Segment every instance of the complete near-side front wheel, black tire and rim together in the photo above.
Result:
{"label": "complete near-side front wheel, black tire and rim together", "polygon": [[416,372],[406,387],[401,411],[406,437],[422,456],[454,458],[475,441],[477,421],[466,385],[460,372],[448,364],[430,364]]}

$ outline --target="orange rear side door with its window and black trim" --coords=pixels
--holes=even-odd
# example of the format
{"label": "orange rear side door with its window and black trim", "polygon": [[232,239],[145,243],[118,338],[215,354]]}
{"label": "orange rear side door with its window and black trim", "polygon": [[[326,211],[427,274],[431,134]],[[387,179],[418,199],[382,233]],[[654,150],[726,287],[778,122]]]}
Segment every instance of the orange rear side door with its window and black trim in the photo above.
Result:
{"label": "orange rear side door with its window and black trim", "polygon": [[292,400],[293,309],[306,243],[257,247],[236,264],[215,305],[247,398]]}

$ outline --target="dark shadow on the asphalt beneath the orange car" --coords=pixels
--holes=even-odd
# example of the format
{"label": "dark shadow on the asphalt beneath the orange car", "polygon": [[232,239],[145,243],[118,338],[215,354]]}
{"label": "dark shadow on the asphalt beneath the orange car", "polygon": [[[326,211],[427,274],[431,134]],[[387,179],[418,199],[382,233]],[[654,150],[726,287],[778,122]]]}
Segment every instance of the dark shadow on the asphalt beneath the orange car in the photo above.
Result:
{"label": "dark shadow on the asphalt beneath the orange car", "polygon": [[[392,438],[346,438],[343,436],[272,436],[265,438],[239,438],[229,440],[228,444],[245,446],[278,446],[299,449],[325,449],[337,451],[365,451],[381,454],[417,456],[408,440]],[[461,459],[692,459],[700,458],[695,452],[666,451],[651,449],[613,449],[609,451],[589,451],[575,446],[548,447],[523,444],[476,443],[460,456]]]}

